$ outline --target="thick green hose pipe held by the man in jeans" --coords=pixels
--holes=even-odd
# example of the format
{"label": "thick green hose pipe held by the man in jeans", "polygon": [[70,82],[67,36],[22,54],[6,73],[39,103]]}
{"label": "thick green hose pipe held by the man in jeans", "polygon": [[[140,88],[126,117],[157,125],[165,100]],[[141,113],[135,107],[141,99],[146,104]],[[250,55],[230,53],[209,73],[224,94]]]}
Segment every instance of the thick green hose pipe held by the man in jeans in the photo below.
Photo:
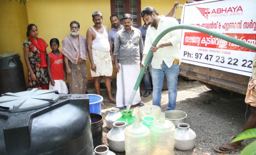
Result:
{"label": "thick green hose pipe held by the man in jeans", "polygon": [[[234,44],[239,45],[241,47],[245,47],[245,48],[248,48],[250,50],[256,51],[256,46],[251,45],[251,44],[249,44],[247,42],[243,42],[243,41],[241,41],[239,39],[230,37],[230,36],[228,36],[226,34],[215,32],[213,30],[205,29],[205,28],[202,28],[202,27],[199,27],[199,26],[195,26],[195,25],[184,25],[184,24],[175,25],[175,26],[169,27],[168,29],[165,29],[162,33],[160,33],[155,38],[155,41],[153,42],[152,46],[155,47],[156,44],[160,41],[161,38],[164,37],[165,34],[169,33],[170,31],[176,30],[176,29],[189,29],[189,30],[194,30],[194,31],[198,31],[198,32],[201,32],[201,33],[209,34],[211,36],[214,36],[214,37],[226,40],[228,42],[234,43]],[[135,86],[133,88],[132,95],[131,95],[131,97],[130,97],[130,99],[128,101],[128,106],[127,106],[128,110],[129,110],[129,108],[130,108],[130,106],[132,104],[132,101],[133,101],[134,96],[135,96],[135,94],[136,94],[136,92],[138,90],[138,87],[140,86],[142,77],[144,75],[144,72],[146,70],[146,66],[148,65],[148,62],[150,60],[151,55],[152,55],[152,51],[149,50],[148,55],[146,57],[146,60],[144,62],[145,66],[142,66],[142,68],[141,68],[139,77],[138,77],[138,79],[137,79],[137,81],[135,83]]]}

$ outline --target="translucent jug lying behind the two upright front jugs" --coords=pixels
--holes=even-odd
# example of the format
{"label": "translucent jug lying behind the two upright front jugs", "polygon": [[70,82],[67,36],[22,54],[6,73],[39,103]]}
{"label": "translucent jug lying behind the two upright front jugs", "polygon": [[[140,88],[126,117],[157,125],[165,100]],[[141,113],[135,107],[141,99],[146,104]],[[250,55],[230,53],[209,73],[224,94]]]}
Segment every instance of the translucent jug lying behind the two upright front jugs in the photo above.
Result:
{"label": "translucent jug lying behind the two upright front jugs", "polygon": [[144,116],[153,116],[155,119],[159,119],[161,113],[161,108],[156,105],[145,105],[139,109],[139,118],[140,122],[142,122],[142,118]]}

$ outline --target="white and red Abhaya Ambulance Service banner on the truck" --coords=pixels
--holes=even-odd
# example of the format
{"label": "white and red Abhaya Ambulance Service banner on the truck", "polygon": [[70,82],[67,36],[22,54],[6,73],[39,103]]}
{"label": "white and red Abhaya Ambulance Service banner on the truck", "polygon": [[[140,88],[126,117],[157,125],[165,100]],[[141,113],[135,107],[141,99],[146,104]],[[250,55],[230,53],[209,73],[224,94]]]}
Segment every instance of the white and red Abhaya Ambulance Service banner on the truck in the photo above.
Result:
{"label": "white and red Abhaya Ambulance Service banner on the truck", "polygon": [[[256,44],[255,0],[205,0],[185,4],[181,24],[204,27]],[[252,74],[255,51],[210,36],[182,30],[182,62],[245,76]]]}

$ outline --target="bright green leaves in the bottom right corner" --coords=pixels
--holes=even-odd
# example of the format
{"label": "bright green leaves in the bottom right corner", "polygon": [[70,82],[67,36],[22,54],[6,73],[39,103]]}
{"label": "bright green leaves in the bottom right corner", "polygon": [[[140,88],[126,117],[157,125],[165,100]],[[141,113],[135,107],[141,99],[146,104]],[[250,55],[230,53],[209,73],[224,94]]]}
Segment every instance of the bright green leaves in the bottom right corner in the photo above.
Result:
{"label": "bright green leaves in the bottom right corner", "polygon": [[[256,137],[256,128],[249,129],[238,135],[232,142],[236,142],[243,139],[255,138]],[[255,155],[256,154],[256,141],[247,145],[242,151],[240,155]]]}

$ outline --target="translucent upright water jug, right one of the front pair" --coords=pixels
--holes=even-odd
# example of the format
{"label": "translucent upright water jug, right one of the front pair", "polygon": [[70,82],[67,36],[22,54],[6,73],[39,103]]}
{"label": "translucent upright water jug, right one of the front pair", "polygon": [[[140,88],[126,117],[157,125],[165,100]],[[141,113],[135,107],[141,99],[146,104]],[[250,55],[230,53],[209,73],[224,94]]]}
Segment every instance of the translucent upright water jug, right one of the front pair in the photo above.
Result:
{"label": "translucent upright water jug, right one of the front pair", "polygon": [[165,113],[160,113],[160,119],[150,125],[150,154],[174,155],[175,126],[165,119]]}

